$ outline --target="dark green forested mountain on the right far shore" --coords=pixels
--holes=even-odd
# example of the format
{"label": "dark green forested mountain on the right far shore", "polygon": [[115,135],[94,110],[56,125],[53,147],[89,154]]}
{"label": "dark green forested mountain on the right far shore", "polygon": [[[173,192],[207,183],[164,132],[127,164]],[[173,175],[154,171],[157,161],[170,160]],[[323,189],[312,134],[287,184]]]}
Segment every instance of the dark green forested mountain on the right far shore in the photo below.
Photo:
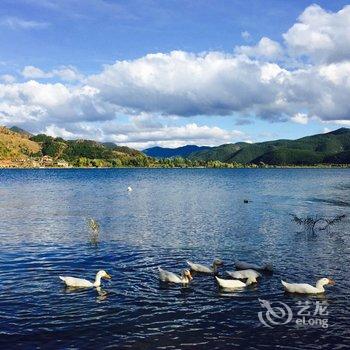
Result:
{"label": "dark green forested mountain on the right far shore", "polygon": [[255,144],[236,143],[190,154],[192,160],[269,165],[349,164],[350,129],[298,140],[276,140]]}

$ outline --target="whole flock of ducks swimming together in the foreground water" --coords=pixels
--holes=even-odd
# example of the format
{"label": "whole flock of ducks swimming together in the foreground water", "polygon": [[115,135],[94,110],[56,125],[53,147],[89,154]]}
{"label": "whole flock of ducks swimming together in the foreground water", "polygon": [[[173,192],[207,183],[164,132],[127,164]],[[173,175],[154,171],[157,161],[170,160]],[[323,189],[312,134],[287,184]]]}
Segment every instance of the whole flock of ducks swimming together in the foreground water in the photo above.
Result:
{"label": "whole flock of ducks swimming together in the foreground water", "polygon": [[[177,283],[188,285],[193,280],[192,273],[200,273],[212,275],[215,277],[220,288],[225,291],[236,291],[244,289],[253,283],[257,283],[258,278],[261,277],[261,273],[272,273],[272,265],[256,265],[243,261],[235,262],[236,271],[226,271],[227,275],[231,278],[219,278],[217,276],[218,268],[223,265],[223,261],[215,259],[211,266],[205,266],[202,264],[196,264],[191,261],[187,261],[188,269],[182,271],[181,275],[177,275],[171,271],[167,271],[158,267],[159,279],[164,283]],[[90,282],[86,279],[70,277],[70,276],[59,276],[59,278],[66,284],[67,287],[71,288],[100,288],[101,280],[111,279],[111,276],[104,270],[100,270],[96,274],[94,282]],[[331,278],[321,278],[316,282],[316,286],[312,286],[307,283],[287,283],[281,281],[283,288],[289,293],[299,294],[320,294],[324,293],[325,285],[334,285],[334,280]]]}

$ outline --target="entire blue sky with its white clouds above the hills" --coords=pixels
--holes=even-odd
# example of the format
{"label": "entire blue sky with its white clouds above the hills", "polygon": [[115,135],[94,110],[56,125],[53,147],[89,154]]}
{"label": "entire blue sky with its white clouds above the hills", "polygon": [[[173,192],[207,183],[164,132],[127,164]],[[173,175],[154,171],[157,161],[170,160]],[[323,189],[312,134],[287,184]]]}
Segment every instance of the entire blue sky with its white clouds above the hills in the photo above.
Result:
{"label": "entire blue sky with its white clouds above the hills", "polygon": [[347,5],[2,0],[0,124],[137,148],[350,125]]}

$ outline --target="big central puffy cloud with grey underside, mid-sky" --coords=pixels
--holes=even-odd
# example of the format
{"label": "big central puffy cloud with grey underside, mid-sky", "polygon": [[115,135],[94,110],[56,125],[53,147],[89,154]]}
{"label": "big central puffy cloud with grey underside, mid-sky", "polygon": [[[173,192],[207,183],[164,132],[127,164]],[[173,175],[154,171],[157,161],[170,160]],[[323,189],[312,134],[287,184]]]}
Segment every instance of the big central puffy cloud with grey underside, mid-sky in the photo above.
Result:
{"label": "big central puffy cloud with grey underside, mid-sky", "polygon": [[219,52],[173,51],[106,65],[87,82],[129,113],[230,115],[273,103],[277,86],[261,78],[268,65]]}

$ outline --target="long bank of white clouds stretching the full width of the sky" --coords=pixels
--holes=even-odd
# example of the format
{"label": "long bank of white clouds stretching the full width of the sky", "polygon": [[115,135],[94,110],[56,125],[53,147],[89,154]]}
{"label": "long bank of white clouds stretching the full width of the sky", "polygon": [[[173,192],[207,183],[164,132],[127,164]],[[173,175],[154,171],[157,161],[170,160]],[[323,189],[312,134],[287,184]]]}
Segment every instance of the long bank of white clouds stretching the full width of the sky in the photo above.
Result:
{"label": "long bank of white clouds stretching the full width of the sky", "polygon": [[[48,78],[57,71],[27,66],[23,75]],[[344,62],[287,70],[242,55],[175,51],[118,61],[76,85],[35,80],[0,84],[0,120],[12,115],[23,122],[65,127],[123,114],[138,116],[143,128],[153,122],[149,115],[237,115],[306,123],[304,113],[321,120],[346,120],[349,80]],[[147,136],[156,139],[157,134]]]}

